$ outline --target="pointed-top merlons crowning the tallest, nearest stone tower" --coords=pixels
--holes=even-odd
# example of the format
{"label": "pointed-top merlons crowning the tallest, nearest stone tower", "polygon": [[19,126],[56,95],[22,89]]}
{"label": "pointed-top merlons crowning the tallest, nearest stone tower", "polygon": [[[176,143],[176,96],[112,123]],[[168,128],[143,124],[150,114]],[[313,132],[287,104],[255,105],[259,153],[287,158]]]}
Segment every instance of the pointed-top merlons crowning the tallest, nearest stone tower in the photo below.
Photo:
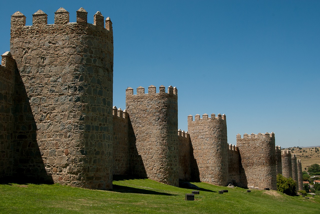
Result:
{"label": "pointed-top merlons crowning the tallest, nearest stone tower", "polygon": [[[93,15],[93,24],[90,24],[87,20],[87,14],[88,12],[81,7],[76,11],[76,22],[69,22],[69,12],[61,7],[56,12],[54,12],[54,24],[48,25],[48,15],[44,11],[38,10],[32,15],[32,26],[40,28],[42,26],[53,28],[55,25],[58,25],[63,29],[64,27],[62,26],[64,25],[81,24],[99,26],[112,31],[112,22],[109,17],[104,20],[101,12],[97,11],[97,13]],[[17,11],[11,16],[11,28],[14,29],[19,27],[31,26],[26,26],[26,16],[23,15],[20,11]]]}

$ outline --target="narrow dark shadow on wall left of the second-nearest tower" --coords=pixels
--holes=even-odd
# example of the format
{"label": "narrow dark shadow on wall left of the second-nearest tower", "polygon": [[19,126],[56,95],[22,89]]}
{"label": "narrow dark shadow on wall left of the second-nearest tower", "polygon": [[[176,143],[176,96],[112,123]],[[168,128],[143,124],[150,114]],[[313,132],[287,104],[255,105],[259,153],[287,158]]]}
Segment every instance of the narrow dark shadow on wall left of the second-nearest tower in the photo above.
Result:
{"label": "narrow dark shadow on wall left of the second-nearest tower", "polygon": [[145,166],[136,147],[136,135],[128,118],[128,139],[129,139],[129,173],[139,178],[148,178]]}

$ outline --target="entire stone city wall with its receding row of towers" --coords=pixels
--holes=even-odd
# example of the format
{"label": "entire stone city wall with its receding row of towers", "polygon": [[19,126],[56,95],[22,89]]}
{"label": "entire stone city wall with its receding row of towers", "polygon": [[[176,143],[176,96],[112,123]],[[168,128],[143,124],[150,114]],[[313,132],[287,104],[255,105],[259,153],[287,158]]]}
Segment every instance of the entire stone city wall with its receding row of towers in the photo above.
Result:
{"label": "entire stone city wall with its receding row of towers", "polygon": [[[126,89],[126,109],[113,106],[113,28],[98,11],[54,24],[41,10],[26,26],[11,16],[10,51],[0,65],[0,180],[112,189],[113,175],[135,175],[179,186],[195,180],[276,189],[276,173],[297,177],[301,161],[281,153],[274,133],[236,136],[226,115],[188,116],[178,130],[178,90],[162,85]],[[178,130],[178,132],[177,132]],[[292,174],[293,172],[293,174]]]}

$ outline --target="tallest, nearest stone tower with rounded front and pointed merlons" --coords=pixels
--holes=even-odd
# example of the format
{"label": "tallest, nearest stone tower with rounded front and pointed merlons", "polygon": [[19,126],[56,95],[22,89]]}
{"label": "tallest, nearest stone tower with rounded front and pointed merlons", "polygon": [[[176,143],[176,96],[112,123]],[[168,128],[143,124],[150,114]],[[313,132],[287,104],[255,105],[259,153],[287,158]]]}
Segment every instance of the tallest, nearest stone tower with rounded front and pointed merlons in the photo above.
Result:
{"label": "tallest, nearest stone tower with rounded front and pointed merlons", "polygon": [[[110,19],[100,12],[94,24],[87,12],[77,11],[69,23],[68,11],[33,14],[25,26],[19,11],[11,18],[10,50],[16,59],[31,117],[16,126],[25,141],[36,142],[45,171],[54,182],[85,188],[112,188],[113,33]],[[28,164],[20,164],[27,168]],[[23,172],[25,173],[25,172]]]}

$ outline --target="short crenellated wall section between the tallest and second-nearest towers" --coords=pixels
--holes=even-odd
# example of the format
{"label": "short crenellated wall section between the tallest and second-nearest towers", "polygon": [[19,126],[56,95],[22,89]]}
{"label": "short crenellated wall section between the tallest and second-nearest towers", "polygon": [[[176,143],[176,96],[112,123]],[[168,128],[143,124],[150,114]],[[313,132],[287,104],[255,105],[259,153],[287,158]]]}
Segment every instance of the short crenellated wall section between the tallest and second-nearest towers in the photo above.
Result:
{"label": "short crenellated wall section between the tallest and second-nearest towers", "polygon": [[128,113],[113,107],[113,175],[129,173]]}

